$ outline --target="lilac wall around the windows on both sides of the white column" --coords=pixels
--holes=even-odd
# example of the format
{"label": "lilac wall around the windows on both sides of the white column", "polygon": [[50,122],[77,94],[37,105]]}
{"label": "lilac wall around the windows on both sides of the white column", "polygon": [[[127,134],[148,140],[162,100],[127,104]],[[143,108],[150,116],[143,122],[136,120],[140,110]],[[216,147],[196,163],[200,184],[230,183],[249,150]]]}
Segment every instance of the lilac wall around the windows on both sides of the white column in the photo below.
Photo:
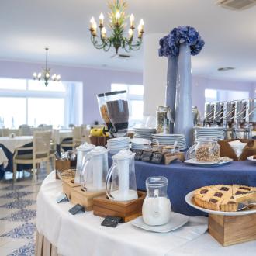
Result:
{"label": "lilac wall around the windows on both sides of the white column", "polygon": [[[40,71],[42,64],[22,63],[15,61],[0,61],[0,77],[32,78],[34,71]],[[110,71],[89,67],[67,67],[51,65],[54,73],[61,74],[63,81],[81,81],[83,87],[83,123],[93,123],[99,116],[96,94],[109,92],[112,83],[142,85],[141,73],[126,71]],[[165,86],[165,85],[163,85]],[[192,103],[204,112],[204,92],[206,88],[221,90],[248,91],[250,97],[256,97],[256,82],[226,81],[213,78],[192,77]],[[151,104],[154,104],[152,102]],[[155,108],[155,106],[154,106]]]}

